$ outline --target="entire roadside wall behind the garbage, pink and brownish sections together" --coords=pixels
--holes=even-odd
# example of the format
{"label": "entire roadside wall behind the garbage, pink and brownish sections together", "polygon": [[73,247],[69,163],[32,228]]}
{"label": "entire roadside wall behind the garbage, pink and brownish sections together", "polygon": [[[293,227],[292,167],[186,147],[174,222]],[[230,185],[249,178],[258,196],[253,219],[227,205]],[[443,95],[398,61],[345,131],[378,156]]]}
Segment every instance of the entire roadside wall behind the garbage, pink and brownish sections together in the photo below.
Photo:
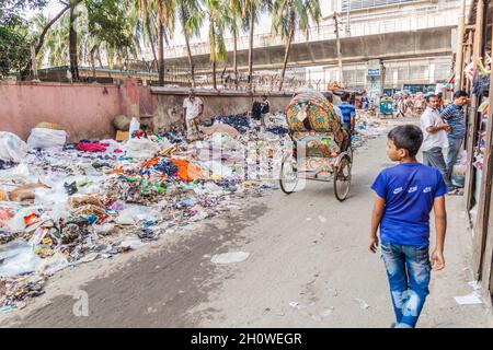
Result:
{"label": "entire roadside wall behind the garbage, pink and brownish sections together", "polygon": [[[139,86],[135,81],[121,85],[0,83],[0,131],[11,131],[26,140],[37,124],[55,122],[71,142],[114,138],[115,116],[153,117],[154,130],[181,122],[187,89]],[[259,94],[197,91],[205,103],[204,119],[251,110]],[[270,95],[272,112],[284,112],[290,95]],[[175,113],[172,113],[173,108]],[[148,118],[141,120],[149,121]]]}

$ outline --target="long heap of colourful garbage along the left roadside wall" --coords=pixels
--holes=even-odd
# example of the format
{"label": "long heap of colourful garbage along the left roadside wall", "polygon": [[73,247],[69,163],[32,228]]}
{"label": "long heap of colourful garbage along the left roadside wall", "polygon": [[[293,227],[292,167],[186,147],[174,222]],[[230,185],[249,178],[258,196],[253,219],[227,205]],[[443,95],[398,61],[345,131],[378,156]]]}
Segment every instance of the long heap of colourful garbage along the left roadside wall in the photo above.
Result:
{"label": "long heap of colourful garbage along the left roadside wall", "polygon": [[276,188],[290,139],[243,119],[216,119],[234,127],[215,124],[193,143],[173,131],[77,144],[62,130],[33,129],[28,143],[4,132],[0,313],[43,294],[62,269],[137,249]]}

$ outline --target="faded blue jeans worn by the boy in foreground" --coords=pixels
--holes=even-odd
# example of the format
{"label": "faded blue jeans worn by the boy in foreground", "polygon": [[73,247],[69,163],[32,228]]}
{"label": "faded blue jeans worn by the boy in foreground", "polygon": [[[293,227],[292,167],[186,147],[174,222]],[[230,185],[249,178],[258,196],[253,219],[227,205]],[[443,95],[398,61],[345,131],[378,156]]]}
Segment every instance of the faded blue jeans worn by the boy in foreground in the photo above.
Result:
{"label": "faded blue jeans worn by the boy in foreground", "polygon": [[432,266],[428,247],[381,244],[397,328],[414,328],[426,296]]}

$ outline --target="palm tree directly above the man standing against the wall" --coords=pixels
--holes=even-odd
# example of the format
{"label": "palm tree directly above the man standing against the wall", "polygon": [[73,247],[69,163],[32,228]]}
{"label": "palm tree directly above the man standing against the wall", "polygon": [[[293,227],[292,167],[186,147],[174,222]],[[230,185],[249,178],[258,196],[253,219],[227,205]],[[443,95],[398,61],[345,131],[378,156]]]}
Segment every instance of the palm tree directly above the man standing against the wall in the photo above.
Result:
{"label": "palm tree directly above the man standing against the wall", "polygon": [[204,24],[205,14],[202,11],[200,3],[197,0],[180,0],[177,15],[183,28],[183,35],[185,37],[192,86],[195,88],[195,65],[190,47],[190,39],[194,36],[200,35],[200,28]]}

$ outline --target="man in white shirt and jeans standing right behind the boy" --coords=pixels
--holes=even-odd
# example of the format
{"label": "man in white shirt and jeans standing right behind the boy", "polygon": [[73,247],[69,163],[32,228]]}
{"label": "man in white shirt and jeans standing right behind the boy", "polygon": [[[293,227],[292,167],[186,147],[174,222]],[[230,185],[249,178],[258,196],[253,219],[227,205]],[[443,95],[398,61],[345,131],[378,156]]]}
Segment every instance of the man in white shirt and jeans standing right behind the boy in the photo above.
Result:
{"label": "man in white shirt and jeans standing right behind the boy", "polygon": [[447,165],[445,163],[443,149],[448,147],[447,132],[450,126],[442,120],[438,112],[438,96],[429,94],[426,96],[426,109],[421,116],[421,129],[423,131],[423,164],[436,167],[444,176],[447,187],[454,188],[450,179],[447,179]]}

